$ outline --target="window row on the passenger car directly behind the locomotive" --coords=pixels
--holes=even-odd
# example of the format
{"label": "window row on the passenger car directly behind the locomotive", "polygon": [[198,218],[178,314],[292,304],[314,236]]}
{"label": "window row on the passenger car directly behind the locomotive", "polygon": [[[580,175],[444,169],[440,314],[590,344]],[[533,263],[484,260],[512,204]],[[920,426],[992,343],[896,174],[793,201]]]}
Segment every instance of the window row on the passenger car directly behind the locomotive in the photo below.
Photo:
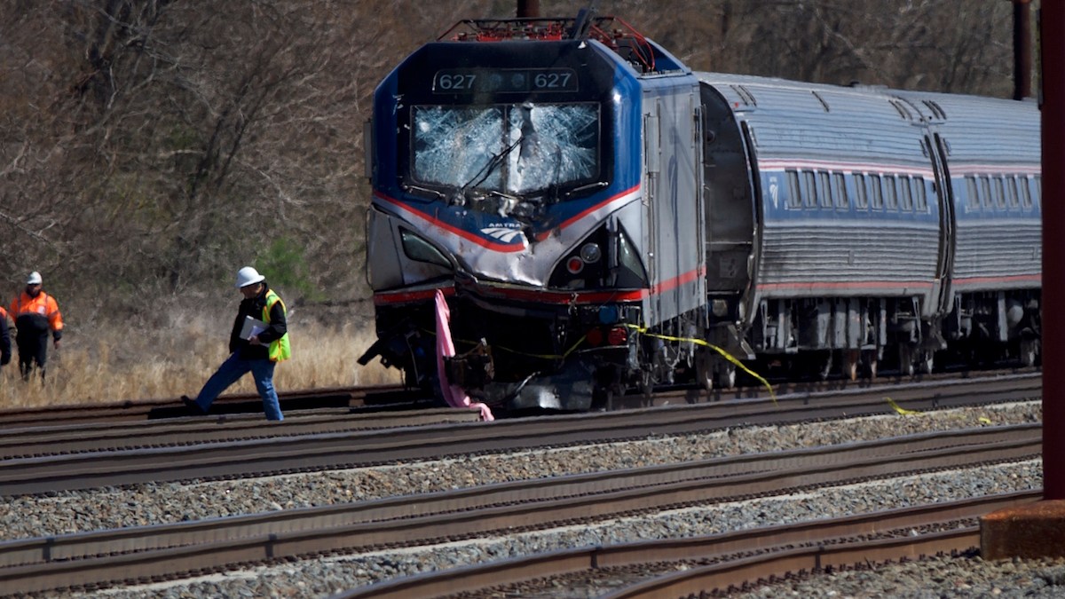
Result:
{"label": "window row on the passenger car directly behind the locomotive", "polygon": [[788,208],[836,208],[928,212],[923,177],[905,175],[851,175],[830,171],[786,171]]}

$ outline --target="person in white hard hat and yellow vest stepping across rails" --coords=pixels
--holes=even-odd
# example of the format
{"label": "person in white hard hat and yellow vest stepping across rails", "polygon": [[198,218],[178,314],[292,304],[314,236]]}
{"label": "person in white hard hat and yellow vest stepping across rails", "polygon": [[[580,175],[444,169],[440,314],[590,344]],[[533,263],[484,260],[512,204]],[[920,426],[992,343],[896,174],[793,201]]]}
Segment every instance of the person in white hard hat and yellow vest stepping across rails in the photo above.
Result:
{"label": "person in white hard hat and yellow vest stepping across rails", "polygon": [[236,288],[244,300],[229,335],[230,355],[208,378],[195,400],[181,401],[192,414],[207,414],[214,400],[242,376],[251,373],[263,399],[267,420],[284,420],[274,389],[274,367],[291,355],[284,303],[251,266],[236,271]]}

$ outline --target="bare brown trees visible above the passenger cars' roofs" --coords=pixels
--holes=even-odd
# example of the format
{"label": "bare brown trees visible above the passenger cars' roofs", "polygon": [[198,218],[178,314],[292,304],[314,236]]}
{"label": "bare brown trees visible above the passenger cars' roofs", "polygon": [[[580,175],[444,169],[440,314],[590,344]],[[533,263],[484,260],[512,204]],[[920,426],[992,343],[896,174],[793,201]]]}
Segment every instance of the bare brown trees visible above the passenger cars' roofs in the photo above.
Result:
{"label": "bare brown trees visible above the passenger cars' roofs", "polygon": [[[575,12],[560,1],[541,7]],[[1011,92],[1013,10],[1002,0],[603,0],[599,7],[698,70]]]}

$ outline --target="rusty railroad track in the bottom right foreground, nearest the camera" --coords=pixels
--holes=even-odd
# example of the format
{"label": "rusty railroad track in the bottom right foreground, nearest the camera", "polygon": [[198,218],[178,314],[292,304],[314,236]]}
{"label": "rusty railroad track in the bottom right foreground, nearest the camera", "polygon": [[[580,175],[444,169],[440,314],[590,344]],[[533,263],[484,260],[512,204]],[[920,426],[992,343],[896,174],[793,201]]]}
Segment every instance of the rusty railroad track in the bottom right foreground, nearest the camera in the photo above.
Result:
{"label": "rusty railroad track in the bottom right foreground, nearest the camera", "polygon": [[402,578],[332,599],[546,597],[559,586],[594,587],[603,599],[706,597],[761,581],[973,551],[979,517],[1041,498],[1042,491],[1022,491],[720,535],[553,551]]}

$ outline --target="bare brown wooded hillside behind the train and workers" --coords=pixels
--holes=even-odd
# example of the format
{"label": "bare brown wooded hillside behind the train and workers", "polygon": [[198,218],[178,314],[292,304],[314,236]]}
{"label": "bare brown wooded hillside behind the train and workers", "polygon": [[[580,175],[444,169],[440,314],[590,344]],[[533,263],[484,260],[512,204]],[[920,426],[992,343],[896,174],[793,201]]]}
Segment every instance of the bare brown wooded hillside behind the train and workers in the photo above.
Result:
{"label": "bare brown wooded hillside behind the train and workers", "polygon": [[[540,13],[574,16],[585,4],[541,0]],[[1013,5],[1003,0],[597,6],[700,70],[1013,92]],[[371,311],[362,131],[374,87],[456,19],[514,9],[514,0],[6,0],[0,301],[40,271],[68,323],[64,352],[118,368],[104,378],[122,378],[120,365],[183,355],[206,376],[213,361],[203,356],[213,354],[189,323],[204,329],[204,343],[224,345],[239,300],[232,277],[250,263],[293,309],[294,336],[300,319],[317,338],[338,336],[335,345],[297,346],[332,347],[329,359],[353,365],[335,383],[350,383],[366,342],[353,330]],[[128,389],[89,394],[168,392]]]}

